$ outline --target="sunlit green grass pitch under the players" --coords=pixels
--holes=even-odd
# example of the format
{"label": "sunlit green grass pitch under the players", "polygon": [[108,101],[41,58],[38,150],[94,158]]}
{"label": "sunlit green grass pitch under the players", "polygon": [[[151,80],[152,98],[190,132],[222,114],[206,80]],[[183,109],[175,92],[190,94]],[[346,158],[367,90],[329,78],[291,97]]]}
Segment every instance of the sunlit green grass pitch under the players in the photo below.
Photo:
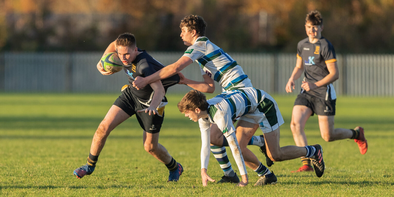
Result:
{"label": "sunlit green grass pitch under the players", "polygon": [[[0,93],[0,196],[394,195],[393,98],[338,98],[335,126],[363,126],[369,145],[365,155],[351,139],[325,142],[317,117],[309,119],[308,142],[321,144],[324,151],[327,169],[322,178],[313,172],[290,173],[301,166],[295,159],[275,162],[269,168],[278,178],[274,186],[253,186],[256,173],[247,168],[250,184],[245,188],[214,183],[203,187],[198,124],[178,112],[181,95],[169,95],[159,143],[183,165],[179,182],[167,183],[164,164],[145,152],[142,130],[134,117],[112,131],[95,172],[78,180],[72,171],[85,164],[93,134],[117,96]],[[285,120],[281,145],[294,145],[289,123],[295,97],[274,98]],[[249,149],[265,164],[258,147]],[[208,174],[216,180],[223,175],[212,155]]]}

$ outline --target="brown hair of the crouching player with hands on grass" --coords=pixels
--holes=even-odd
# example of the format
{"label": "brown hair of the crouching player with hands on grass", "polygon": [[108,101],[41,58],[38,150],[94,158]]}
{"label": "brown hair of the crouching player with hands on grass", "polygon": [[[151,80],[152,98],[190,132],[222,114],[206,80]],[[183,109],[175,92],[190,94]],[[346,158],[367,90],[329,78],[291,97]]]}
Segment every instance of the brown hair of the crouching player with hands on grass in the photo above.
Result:
{"label": "brown hair of the crouching player with hands on grass", "polygon": [[206,111],[208,102],[206,102],[206,96],[203,93],[193,89],[178,102],[178,109],[180,113],[186,113],[187,111],[194,111],[196,108]]}

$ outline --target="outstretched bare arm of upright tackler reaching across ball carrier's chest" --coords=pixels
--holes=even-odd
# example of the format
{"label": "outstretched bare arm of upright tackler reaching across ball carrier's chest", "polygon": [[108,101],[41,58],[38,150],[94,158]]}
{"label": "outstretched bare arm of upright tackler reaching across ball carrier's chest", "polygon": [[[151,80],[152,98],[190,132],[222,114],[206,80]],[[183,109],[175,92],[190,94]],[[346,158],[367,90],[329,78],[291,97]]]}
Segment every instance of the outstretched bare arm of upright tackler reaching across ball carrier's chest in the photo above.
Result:
{"label": "outstretched bare arm of upright tackler reaching across ball carrier's chest", "polygon": [[160,71],[155,72],[152,75],[149,75],[147,77],[136,77],[136,79],[133,82],[133,86],[136,87],[137,89],[145,87],[147,84],[150,84],[152,82],[155,82],[157,80],[162,80],[165,78],[168,78],[170,76],[173,76],[174,74],[177,74],[178,72],[182,71],[186,66],[190,65],[193,63],[193,61],[185,56],[182,56],[181,58],[178,59],[173,64],[170,64],[162,69]]}

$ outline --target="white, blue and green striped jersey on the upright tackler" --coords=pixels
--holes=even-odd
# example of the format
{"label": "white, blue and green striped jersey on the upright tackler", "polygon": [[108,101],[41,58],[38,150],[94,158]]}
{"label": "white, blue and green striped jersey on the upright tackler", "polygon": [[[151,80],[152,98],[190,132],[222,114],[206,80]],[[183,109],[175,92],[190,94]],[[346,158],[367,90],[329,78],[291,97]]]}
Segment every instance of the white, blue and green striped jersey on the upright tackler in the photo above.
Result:
{"label": "white, blue and green striped jersey on the upright tackler", "polygon": [[198,37],[183,56],[199,63],[201,74],[208,74],[210,78],[219,82],[224,90],[252,87],[242,67],[207,37]]}

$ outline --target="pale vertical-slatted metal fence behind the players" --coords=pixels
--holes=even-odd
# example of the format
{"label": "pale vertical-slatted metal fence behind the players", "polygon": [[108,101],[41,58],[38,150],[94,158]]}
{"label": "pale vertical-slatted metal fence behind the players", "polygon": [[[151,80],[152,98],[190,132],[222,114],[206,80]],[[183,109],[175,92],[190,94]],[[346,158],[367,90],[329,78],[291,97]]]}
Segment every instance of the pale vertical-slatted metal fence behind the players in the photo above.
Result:
{"label": "pale vertical-slatted metal fence behind the players", "polygon": [[[150,52],[164,65],[177,61],[182,52]],[[115,93],[128,83],[121,71],[103,76],[96,69],[101,52],[0,53],[0,91]],[[271,94],[285,94],[296,54],[230,53],[251,79],[253,86]],[[394,55],[337,55],[340,78],[334,82],[338,95],[394,96]],[[193,63],[182,73],[201,81],[199,65]],[[302,77],[301,77],[302,78]],[[300,91],[301,79],[296,82]],[[216,84],[216,86],[219,86]],[[216,87],[220,91],[219,87]],[[169,93],[185,93],[186,85],[170,87]]]}

